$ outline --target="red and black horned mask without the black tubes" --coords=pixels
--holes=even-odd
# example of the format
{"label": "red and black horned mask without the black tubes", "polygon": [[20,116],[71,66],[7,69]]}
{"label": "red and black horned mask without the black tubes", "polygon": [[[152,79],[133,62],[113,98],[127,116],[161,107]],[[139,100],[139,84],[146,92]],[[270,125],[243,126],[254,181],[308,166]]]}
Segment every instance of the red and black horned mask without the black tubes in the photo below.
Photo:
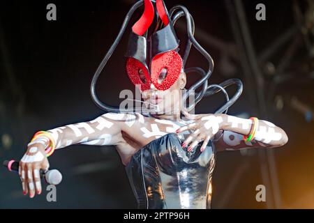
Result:
{"label": "red and black horned mask without the black tubes", "polygon": [[[149,26],[154,20],[155,7],[151,0],[144,0],[144,13],[132,27],[128,41],[126,71],[133,84],[139,84],[142,91],[154,84],[158,90],[167,90],[176,82],[182,70],[183,62],[178,54],[179,40],[163,0],[156,0],[157,14],[163,28],[146,38]],[[160,72],[166,69],[163,82],[158,83]],[[140,78],[140,72],[144,79]]]}

